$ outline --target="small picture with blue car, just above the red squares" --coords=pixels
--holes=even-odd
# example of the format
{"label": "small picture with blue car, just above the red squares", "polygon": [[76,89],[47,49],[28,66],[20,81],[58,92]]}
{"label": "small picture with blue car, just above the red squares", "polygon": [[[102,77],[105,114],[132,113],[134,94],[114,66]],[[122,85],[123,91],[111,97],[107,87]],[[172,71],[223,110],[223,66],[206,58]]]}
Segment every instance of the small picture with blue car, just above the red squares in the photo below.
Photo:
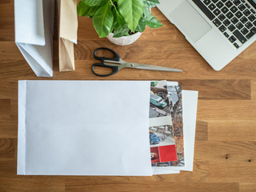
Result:
{"label": "small picture with blue car, just above the red squares", "polygon": [[174,144],[172,126],[150,126],[150,146],[167,146]]}

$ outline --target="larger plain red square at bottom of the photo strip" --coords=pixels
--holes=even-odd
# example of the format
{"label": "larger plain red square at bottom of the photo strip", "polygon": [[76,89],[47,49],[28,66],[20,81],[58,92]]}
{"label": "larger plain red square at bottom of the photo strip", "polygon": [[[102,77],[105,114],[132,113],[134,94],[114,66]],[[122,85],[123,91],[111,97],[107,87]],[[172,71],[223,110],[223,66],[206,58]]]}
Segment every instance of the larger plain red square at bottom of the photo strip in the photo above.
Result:
{"label": "larger plain red square at bottom of the photo strip", "polygon": [[175,145],[159,146],[160,162],[177,161],[177,153]]}

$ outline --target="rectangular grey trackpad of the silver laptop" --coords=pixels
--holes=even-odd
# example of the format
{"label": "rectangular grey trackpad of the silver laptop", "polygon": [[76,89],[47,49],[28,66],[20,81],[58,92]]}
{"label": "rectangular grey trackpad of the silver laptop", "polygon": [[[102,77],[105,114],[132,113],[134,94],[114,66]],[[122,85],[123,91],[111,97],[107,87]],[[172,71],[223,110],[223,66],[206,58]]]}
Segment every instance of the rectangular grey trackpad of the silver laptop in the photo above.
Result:
{"label": "rectangular grey trackpad of the silver laptop", "polygon": [[192,42],[197,42],[212,27],[189,2],[182,2],[175,10],[170,13],[170,18],[181,28],[186,38]]}

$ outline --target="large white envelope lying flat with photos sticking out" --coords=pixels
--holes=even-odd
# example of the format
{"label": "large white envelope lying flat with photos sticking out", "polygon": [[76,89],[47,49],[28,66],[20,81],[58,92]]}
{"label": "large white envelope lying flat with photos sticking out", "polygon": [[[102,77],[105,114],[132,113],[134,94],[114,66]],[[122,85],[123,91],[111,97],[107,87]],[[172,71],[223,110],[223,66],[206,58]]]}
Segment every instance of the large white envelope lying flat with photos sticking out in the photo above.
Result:
{"label": "large white envelope lying flat with photos sticking out", "polygon": [[19,81],[18,174],[152,175],[150,82]]}

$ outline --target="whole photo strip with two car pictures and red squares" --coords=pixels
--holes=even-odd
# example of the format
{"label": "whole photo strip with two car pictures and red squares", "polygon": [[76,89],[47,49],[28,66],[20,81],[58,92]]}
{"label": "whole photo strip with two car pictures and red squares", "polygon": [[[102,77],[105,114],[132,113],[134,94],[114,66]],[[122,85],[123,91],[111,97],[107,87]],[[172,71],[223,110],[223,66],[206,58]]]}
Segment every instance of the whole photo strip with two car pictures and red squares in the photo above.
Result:
{"label": "whole photo strip with two car pictures and red squares", "polygon": [[152,166],[178,160],[170,104],[167,82],[151,82],[149,137]]}

